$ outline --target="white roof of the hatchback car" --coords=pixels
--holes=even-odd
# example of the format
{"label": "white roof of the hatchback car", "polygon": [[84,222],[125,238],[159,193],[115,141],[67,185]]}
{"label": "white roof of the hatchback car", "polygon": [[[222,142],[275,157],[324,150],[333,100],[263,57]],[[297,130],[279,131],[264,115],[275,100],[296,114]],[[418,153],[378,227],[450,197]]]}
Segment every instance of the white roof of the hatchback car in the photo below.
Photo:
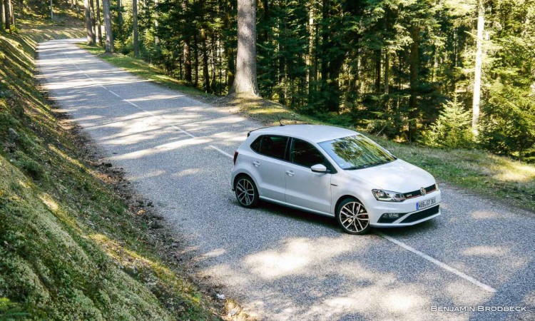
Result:
{"label": "white roof of the hatchback car", "polygon": [[258,135],[280,135],[300,138],[305,141],[312,141],[314,143],[320,143],[322,141],[330,141],[335,138],[342,138],[347,136],[356,135],[356,131],[350,131],[349,129],[325,126],[325,125],[285,125],[260,128],[254,133]]}

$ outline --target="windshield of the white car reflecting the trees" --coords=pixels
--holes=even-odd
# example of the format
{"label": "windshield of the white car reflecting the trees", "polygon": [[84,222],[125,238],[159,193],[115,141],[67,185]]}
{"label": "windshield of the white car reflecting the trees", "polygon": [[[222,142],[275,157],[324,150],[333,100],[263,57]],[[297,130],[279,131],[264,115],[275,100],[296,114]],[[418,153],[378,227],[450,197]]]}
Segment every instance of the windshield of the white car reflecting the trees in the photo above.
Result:
{"label": "windshield of the white car reflecting the trees", "polygon": [[319,143],[320,147],[345,170],[355,170],[395,161],[384,148],[362,135]]}

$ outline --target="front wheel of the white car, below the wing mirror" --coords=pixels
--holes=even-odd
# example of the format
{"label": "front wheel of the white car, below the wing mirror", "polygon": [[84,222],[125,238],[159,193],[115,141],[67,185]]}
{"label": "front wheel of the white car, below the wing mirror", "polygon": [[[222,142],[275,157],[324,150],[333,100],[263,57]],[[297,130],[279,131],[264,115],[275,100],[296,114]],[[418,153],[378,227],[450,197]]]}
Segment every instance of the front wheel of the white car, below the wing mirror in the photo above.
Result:
{"label": "front wheel of the white car, below the wing mirror", "polygon": [[[356,219],[355,219],[356,218]],[[336,220],[345,233],[363,235],[370,232],[370,215],[360,200],[346,198],[336,209]]]}

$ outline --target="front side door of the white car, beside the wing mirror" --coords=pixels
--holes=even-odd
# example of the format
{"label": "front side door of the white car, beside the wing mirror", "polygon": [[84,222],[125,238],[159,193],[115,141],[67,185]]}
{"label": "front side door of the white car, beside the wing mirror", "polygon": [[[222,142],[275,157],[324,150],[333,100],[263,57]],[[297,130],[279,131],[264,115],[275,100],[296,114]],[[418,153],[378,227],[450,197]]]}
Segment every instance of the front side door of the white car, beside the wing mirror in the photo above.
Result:
{"label": "front side door of the white car, beside the wing mirror", "polygon": [[323,164],[334,170],[311,143],[291,138],[289,163],[285,165],[286,203],[330,213],[331,173],[315,173],[310,167]]}

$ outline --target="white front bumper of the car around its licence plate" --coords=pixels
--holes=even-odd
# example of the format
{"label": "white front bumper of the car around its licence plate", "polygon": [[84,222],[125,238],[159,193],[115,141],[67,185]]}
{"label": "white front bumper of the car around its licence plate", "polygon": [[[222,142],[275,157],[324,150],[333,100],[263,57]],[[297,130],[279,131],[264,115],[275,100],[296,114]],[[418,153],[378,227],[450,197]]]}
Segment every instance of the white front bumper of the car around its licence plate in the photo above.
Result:
{"label": "white front bumper of the car around its licence plate", "polygon": [[[417,203],[424,200],[435,198],[434,205],[417,210]],[[424,197],[412,198],[401,203],[379,202],[368,209],[370,215],[370,225],[375,228],[394,228],[401,226],[410,226],[422,223],[426,220],[436,218],[440,213],[440,202],[442,201],[440,190],[435,190]],[[384,213],[399,213],[399,218],[395,220],[382,220]]]}

